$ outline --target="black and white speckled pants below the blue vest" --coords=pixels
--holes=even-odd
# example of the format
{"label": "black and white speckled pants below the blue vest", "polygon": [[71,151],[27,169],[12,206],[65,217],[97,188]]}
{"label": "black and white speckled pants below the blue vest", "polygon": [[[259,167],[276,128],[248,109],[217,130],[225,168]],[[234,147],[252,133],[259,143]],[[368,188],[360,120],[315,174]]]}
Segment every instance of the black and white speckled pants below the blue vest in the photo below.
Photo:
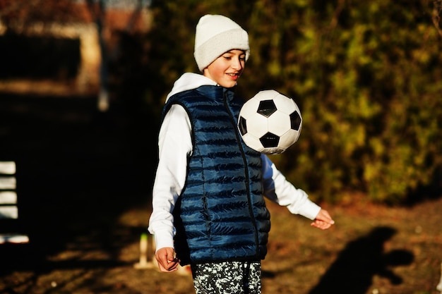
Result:
{"label": "black and white speckled pants below the blue vest", "polygon": [[261,294],[261,262],[192,264],[196,294]]}

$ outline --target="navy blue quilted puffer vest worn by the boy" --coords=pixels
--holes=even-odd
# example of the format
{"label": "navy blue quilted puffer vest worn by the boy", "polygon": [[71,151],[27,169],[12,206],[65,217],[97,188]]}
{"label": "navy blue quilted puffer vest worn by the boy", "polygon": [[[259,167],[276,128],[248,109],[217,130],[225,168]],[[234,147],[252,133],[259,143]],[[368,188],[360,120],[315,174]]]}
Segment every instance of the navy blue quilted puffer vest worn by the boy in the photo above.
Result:
{"label": "navy blue quilted puffer vest worn by the boy", "polygon": [[231,90],[201,86],[170,97],[163,114],[172,104],[189,114],[193,140],[186,185],[174,208],[181,265],[264,259],[270,214],[261,156],[237,130],[243,102]]}

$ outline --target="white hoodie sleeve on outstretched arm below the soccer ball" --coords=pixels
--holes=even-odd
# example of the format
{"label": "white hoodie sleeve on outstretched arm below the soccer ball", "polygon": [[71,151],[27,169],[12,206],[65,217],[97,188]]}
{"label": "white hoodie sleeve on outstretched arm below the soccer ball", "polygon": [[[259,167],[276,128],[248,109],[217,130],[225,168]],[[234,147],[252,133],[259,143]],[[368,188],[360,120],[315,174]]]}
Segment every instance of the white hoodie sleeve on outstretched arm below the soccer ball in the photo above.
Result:
{"label": "white hoodie sleeve on outstretched arm below the soccer ball", "polygon": [[304,190],[297,189],[292,183],[289,183],[265,154],[261,154],[261,158],[263,159],[264,196],[281,206],[287,207],[292,214],[300,214],[308,219],[315,219],[321,207],[311,202]]}

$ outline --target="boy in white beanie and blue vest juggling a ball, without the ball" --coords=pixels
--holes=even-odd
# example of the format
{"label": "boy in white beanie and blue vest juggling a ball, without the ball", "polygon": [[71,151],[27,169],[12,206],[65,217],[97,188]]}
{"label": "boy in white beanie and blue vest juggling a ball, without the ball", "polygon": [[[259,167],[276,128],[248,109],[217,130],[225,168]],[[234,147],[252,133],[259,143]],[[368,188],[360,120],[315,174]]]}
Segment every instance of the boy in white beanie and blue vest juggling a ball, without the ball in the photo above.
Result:
{"label": "boy in white beanie and blue vest juggling a ball, without the ball", "polygon": [[249,55],[249,36],[237,23],[203,16],[194,51],[203,75],[181,75],[163,110],[149,231],[160,270],[191,264],[197,294],[261,293],[270,231],[263,195],[317,228],[334,223],[242,142],[237,118],[244,102],[233,90]]}

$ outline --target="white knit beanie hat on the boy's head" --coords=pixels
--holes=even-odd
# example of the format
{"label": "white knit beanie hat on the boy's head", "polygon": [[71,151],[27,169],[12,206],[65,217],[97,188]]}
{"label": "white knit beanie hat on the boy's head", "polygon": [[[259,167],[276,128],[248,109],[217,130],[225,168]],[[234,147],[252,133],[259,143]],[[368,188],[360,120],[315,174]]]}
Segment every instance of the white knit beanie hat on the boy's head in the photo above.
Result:
{"label": "white knit beanie hat on the boy's head", "polygon": [[225,52],[239,49],[246,52],[246,61],[250,56],[249,35],[230,18],[206,14],[196,25],[195,56],[200,71],[208,67]]}

